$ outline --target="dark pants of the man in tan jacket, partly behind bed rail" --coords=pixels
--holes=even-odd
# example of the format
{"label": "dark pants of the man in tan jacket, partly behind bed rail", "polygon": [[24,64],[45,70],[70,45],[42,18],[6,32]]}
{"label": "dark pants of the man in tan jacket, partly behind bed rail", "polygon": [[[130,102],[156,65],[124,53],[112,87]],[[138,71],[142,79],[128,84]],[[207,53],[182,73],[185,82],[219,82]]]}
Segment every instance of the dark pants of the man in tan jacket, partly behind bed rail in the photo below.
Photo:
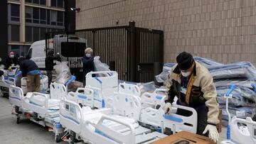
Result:
{"label": "dark pants of the man in tan jacket, partly behind bed rail", "polygon": [[[207,113],[208,113],[208,108],[204,106],[198,106],[196,108],[196,112],[198,113],[198,126],[197,126],[197,132],[196,134],[198,135],[204,135],[208,137],[208,132],[206,134],[203,134],[203,131],[206,129],[207,126]],[[192,112],[191,111],[186,111],[183,109],[177,109],[177,114],[181,116],[191,116]]]}

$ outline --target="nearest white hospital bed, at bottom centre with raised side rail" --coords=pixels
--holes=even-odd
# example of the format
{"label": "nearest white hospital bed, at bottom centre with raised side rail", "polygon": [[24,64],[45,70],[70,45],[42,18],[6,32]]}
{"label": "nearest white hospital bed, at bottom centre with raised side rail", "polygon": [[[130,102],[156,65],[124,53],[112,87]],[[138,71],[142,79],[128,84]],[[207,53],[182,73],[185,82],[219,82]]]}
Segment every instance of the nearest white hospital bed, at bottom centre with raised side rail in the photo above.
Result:
{"label": "nearest white hospital bed, at bottom centre with raised side rail", "polygon": [[[131,100],[131,101],[130,101]],[[118,101],[118,100],[117,100]],[[117,102],[116,101],[116,102]],[[137,99],[127,99],[130,104],[126,109],[136,111],[134,106]],[[137,101],[137,102],[135,102]],[[127,106],[127,102],[119,99],[119,106]],[[70,141],[82,140],[85,143],[149,143],[166,135],[151,132],[150,129],[139,126],[134,118],[129,118],[132,113],[120,113],[123,109],[119,106],[113,109],[95,109],[81,106],[74,101],[64,99],[60,102],[60,123],[70,131]],[[120,111],[116,111],[116,110]],[[128,117],[127,117],[128,116]],[[136,115],[134,115],[136,117]]]}

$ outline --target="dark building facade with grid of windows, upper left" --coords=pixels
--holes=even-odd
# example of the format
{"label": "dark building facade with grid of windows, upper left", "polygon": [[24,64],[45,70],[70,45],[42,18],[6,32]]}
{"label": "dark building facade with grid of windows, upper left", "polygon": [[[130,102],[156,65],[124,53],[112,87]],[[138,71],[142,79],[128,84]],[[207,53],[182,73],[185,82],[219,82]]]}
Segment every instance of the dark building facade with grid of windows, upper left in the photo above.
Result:
{"label": "dark building facade with grid of windows, upper left", "polygon": [[0,57],[9,51],[26,55],[33,42],[45,39],[46,32],[74,30],[71,7],[75,0],[2,0],[1,36],[6,40],[0,42]]}

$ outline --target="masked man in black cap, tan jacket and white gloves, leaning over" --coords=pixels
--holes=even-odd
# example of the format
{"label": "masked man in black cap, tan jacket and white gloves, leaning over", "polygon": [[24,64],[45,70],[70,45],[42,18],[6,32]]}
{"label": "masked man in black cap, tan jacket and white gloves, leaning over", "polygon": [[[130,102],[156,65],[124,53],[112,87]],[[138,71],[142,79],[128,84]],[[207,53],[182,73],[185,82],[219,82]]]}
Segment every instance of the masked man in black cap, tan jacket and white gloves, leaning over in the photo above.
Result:
{"label": "masked man in black cap, tan jacket and white gloves, leaning over", "polygon": [[[178,65],[172,67],[166,84],[165,112],[171,109],[174,97],[178,97],[178,105],[189,106],[198,113],[197,134],[208,136],[215,142],[219,138],[216,125],[219,105],[217,92],[210,72],[200,63],[193,60],[188,52],[181,52],[176,61]],[[178,109],[177,113],[191,116],[191,111]]]}

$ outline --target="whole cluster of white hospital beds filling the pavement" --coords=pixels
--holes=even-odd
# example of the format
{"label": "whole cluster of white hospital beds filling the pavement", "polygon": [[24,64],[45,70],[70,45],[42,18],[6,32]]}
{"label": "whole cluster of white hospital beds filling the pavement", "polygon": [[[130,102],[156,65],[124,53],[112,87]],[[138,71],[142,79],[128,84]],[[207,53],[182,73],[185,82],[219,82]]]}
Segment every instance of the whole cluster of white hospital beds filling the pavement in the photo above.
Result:
{"label": "whole cluster of white hospital beds filling the pavement", "polygon": [[[70,79],[71,80],[71,79]],[[50,84],[50,94],[26,95],[19,87],[9,89],[9,98],[21,117],[48,126],[59,142],[69,133],[70,143],[151,143],[166,137],[164,132],[196,133],[197,113],[186,106],[173,106],[164,113],[164,89],[153,93],[140,92],[134,84],[118,84],[117,72],[90,72],[86,87],[68,92],[67,85]],[[179,116],[176,109],[192,111]]]}

